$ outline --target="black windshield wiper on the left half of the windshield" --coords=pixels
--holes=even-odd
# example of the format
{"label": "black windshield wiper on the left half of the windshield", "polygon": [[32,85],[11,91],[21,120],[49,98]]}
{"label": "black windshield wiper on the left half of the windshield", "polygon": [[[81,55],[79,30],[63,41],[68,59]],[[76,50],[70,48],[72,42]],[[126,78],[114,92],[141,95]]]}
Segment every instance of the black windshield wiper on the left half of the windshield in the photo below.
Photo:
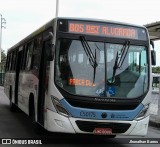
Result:
{"label": "black windshield wiper on the left half of the windshield", "polygon": [[93,83],[95,81],[95,75],[96,75],[96,67],[98,66],[97,61],[96,61],[96,50],[95,50],[95,54],[93,54],[86,38],[84,36],[80,36],[80,41],[82,43],[82,46],[84,48],[84,51],[86,53],[86,55],[88,56],[90,65],[93,67],[94,69],[94,75],[93,75]]}

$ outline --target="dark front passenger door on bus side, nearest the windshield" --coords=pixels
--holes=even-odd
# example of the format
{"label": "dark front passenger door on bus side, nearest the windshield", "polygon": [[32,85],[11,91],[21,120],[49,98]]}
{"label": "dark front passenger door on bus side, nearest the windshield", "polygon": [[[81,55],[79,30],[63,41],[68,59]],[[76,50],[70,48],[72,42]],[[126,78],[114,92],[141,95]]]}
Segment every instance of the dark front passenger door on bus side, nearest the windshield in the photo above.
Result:
{"label": "dark front passenger door on bus side, nearest the windshield", "polygon": [[46,50],[49,47],[50,41],[43,43],[40,70],[39,70],[39,93],[38,93],[38,122],[44,125],[44,102],[45,93],[48,91],[48,71],[50,62],[47,61]]}

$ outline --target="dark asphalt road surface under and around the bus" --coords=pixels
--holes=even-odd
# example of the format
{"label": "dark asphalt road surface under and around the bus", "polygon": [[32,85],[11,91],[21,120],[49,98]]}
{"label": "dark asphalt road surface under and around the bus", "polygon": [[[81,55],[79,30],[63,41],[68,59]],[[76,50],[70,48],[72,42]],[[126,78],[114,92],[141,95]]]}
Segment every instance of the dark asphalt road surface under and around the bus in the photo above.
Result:
{"label": "dark asphalt road surface under and around the bus", "polygon": [[[12,139],[44,139],[51,141],[52,144],[36,145],[45,147],[159,147],[160,146],[160,128],[149,126],[148,134],[146,137],[121,137],[117,136],[115,139],[104,138],[101,136],[82,136],[82,135],[70,135],[45,132],[42,135],[37,135],[32,126],[32,122],[29,117],[21,111],[10,112],[9,100],[3,93],[3,88],[0,87],[0,139],[12,138]],[[159,138],[159,144],[129,144],[130,141],[157,141]],[[5,146],[28,146],[28,145],[2,145]],[[29,145],[33,146],[33,145]]]}

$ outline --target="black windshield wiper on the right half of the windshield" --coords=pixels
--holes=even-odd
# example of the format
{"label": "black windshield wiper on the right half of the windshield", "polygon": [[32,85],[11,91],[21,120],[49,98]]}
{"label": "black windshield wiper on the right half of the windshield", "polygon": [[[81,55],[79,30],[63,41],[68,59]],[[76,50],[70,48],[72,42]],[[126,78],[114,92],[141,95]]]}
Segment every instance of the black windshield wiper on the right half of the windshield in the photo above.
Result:
{"label": "black windshield wiper on the right half of the windshield", "polygon": [[114,83],[114,81],[115,81],[115,75],[116,75],[117,69],[121,68],[122,65],[123,65],[123,62],[126,58],[129,47],[130,47],[130,41],[126,41],[126,43],[123,45],[123,47],[121,49],[121,52],[118,53],[118,51],[117,51],[115,63],[114,63],[114,66],[113,66],[112,83]]}

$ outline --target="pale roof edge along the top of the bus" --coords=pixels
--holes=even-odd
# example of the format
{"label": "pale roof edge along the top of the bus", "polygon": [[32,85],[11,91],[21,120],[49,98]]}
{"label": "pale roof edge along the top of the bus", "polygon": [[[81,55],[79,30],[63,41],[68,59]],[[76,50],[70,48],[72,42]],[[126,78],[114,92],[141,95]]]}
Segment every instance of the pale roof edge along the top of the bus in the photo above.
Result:
{"label": "pale roof edge along the top of the bus", "polygon": [[41,26],[40,28],[38,28],[37,30],[35,30],[34,32],[32,32],[30,35],[28,35],[27,37],[23,38],[21,41],[19,41],[17,44],[15,44],[14,46],[12,46],[11,48],[8,49],[8,52],[10,52],[12,49],[18,48],[21,44],[23,44],[24,42],[26,42],[26,40],[31,40],[34,36],[38,35],[39,33],[45,31],[46,29],[48,29],[49,27],[53,27],[54,22],[60,19],[65,19],[65,20],[77,20],[77,21],[90,21],[90,22],[101,22],[101,23],[112,23],[112,24],[119,24],[119,25],[126,25],[126,26],[132,26],[132,27],[138,27],[138,28],[144,28],[146,29],[145,26],[140,26],[140,25],[135,25],[135,24],[129,24],[129,23],[124,23],[124,22],[118,22],[118,21],[111,21],[111,20],[104,20],[104,19],[93,19],[93,18],[74,18],[74,17],[56,17],[52,20],[50,20],[49,22],[47,22],[46,24],[44,24],[43,26]]}

